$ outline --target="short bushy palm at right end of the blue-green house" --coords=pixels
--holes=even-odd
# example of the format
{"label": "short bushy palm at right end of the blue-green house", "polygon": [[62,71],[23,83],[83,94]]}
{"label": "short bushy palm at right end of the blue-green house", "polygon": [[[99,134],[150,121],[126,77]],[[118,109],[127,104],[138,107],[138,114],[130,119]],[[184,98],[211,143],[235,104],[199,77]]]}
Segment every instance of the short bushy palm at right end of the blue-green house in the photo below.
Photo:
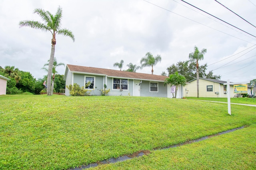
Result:
{"label": "short bushy palm at right end of the blue-green house", "polygon": [[[175,97],[177,96],[177,91],[178,91],[178,86],[182,85],[185,86],[186,85],[186,78],[183,75],[178,74],[178,71],[176,71],[174,74],[171,74],[169,76],[169,78],[166,78],[164,81],[164,86],[166,84],[170,84],[170,86],[172,87],[172,85],[176,86],[176,90],[175,90]],[[173,95],[173,93],[172,93]]]}

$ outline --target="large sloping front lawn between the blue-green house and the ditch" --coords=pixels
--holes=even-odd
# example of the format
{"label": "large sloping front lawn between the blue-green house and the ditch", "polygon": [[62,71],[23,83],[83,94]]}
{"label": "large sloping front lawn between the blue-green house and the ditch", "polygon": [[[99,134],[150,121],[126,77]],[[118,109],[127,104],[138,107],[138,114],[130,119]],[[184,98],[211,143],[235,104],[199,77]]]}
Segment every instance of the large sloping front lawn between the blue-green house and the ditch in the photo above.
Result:
{"label": "large sloping front lawn between the blue-green house and the ditch", "polygon": [[255,107],[230,116],[227,104],[187,99],[2,95],[0,105],[0,169],[68,169],[256,123]]}

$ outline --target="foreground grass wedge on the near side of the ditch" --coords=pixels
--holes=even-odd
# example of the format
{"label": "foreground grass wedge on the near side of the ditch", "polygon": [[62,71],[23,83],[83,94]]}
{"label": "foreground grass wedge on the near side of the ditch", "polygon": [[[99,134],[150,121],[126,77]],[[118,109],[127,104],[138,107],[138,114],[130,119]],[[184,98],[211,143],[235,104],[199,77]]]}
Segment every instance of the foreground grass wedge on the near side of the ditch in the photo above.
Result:
{"label": "foreground grass wedge on the near side of the ditch", "polygon": [[99,165],[97,170],[256,169],[256,124],[178,148],[152,151],[147,156]]}

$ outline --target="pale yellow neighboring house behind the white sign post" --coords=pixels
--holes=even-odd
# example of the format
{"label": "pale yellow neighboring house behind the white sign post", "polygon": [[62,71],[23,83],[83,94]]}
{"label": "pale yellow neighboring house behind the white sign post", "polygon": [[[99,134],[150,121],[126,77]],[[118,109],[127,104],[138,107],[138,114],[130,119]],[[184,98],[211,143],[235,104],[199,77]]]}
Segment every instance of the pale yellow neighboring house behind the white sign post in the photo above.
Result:
{"label": "pale yellow neighboring house behind the white sign post", "polygon": [[[199,78],[199,97],[228,97],[227,86],[223,85],[227,81]],[[248,86],[248,94],[251,87]],[[255,90],[255,88],[254,88]],[[253,94],[255,91],[252,91]],[[186,83],[183,87],[184,97],[197,97],[197,83],[196,79],[193,79]],[[241,97],[241,94],[234,93],[234,86],[230,85],[230,97]]]}

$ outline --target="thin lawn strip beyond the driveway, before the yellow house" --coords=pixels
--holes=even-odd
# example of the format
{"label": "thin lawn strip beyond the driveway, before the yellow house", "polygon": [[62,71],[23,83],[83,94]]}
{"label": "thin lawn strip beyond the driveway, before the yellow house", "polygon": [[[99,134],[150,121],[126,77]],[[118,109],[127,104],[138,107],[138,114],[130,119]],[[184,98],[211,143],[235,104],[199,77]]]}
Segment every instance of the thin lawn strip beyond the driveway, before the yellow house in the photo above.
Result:
{"label": "thin lawn strip beyond the driveway, before the yellow house", "polygon": [[[187,99],[194,99],[194,100],[205,100],[205,101],[220,101],[220,102],[228,102],[227,98],[217,98],[217,97],[186,97]],[[238,98],[230,98],[231,103],[241,103],[241,104],[249,104],[249,105],[256,105],[255,98],[247,98],[247,97],[238,97]]]}

